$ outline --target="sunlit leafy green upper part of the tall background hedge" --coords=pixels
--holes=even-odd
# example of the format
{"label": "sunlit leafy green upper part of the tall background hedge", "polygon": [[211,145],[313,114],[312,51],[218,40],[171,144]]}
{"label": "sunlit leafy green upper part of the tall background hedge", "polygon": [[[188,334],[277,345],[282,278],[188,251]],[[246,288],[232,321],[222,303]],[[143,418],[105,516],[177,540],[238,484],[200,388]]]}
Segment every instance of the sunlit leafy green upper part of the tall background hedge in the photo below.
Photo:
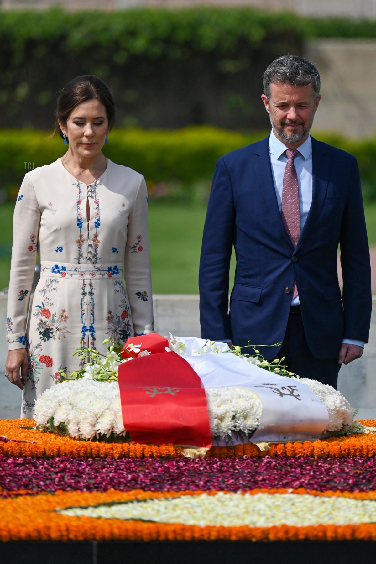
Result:
{"label": "sunlit leafy green upper part of the tall background hedge", "polygon": [[[253,8],[191,8],[183,10],[5,11],[0,19],[2,49],[5,41],[15,61],[25,55],[30,40],[40,43],[33,53],[41,58],[51,41],[61,41],[61,51],[76,55],[92,46],[113,52],[118,62],[130,55],[172,59],[185,57],[184,46],[196,51],[221,51],[231,55],[238,41],[259,45],[269,31],[298,33],[302,37],[376,37],[376,20],[311,18],[288,12]],[[175,45],[171,50],[170,46]]]}

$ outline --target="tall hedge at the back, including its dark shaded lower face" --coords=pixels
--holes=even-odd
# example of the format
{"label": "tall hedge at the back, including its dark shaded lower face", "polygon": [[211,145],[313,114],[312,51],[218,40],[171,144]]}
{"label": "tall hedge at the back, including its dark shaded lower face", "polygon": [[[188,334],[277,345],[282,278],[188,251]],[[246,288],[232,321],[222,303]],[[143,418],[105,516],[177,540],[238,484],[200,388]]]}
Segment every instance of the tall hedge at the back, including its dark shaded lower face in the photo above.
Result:
{"label": "tall hedge at the back, including its dark shaded lower face", "polygon": [[48,129],[61,87],[94,73],[120,127],[263,129],[263,71],[312,37],[374,38],[376,21],[250,8],[3,11],[0,127]]}

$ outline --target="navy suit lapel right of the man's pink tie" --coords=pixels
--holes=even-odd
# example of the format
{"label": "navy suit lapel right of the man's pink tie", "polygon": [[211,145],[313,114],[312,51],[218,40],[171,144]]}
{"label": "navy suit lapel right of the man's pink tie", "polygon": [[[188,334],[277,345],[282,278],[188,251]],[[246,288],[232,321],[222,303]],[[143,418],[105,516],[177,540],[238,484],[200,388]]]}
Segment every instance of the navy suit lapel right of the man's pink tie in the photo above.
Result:
{"label": "navy suit lapel right of the man's pink tie", "polygon": [[312,204],[309,209],[306,223],[295,249],[295,252],[302,246],[304,240],[315,226],[319,217],[322,204],[324,204],[326,188],[328,187],[330,173],[330,157],[326,149],[322,149],[316,139],[312,139]]}

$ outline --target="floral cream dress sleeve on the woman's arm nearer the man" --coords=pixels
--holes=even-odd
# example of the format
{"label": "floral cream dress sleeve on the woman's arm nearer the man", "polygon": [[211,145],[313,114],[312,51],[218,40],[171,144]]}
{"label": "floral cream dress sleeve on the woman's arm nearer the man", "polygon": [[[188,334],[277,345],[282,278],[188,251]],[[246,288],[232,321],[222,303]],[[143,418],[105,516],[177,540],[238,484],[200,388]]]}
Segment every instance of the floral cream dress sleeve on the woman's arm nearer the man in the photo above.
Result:
{"label": "floral cream dress sleeve on the woman's arm nearer the man", "polygon": [[124,278],[135,334],[153,333],[152,280],[148,237],[148,192],[144,178],[129,215]]}

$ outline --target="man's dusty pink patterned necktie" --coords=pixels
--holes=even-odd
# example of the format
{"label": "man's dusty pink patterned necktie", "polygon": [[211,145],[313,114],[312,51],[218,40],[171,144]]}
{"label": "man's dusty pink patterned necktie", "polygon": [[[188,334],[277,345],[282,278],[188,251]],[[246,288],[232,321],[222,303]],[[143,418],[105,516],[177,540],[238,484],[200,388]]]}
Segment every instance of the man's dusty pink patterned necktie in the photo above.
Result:
{"label": "man's dusty pink patterned necktie", "polygon": [[[298,175],[295,170],[294,158],[300,153],[297,149],[287,149],[285,153],[289,160],[286,164],[282,187],[282,222],[295,248],[300,237],[300,209]],[[294,279],[292,299],[296,296],[298,296],[298,289]]]}

